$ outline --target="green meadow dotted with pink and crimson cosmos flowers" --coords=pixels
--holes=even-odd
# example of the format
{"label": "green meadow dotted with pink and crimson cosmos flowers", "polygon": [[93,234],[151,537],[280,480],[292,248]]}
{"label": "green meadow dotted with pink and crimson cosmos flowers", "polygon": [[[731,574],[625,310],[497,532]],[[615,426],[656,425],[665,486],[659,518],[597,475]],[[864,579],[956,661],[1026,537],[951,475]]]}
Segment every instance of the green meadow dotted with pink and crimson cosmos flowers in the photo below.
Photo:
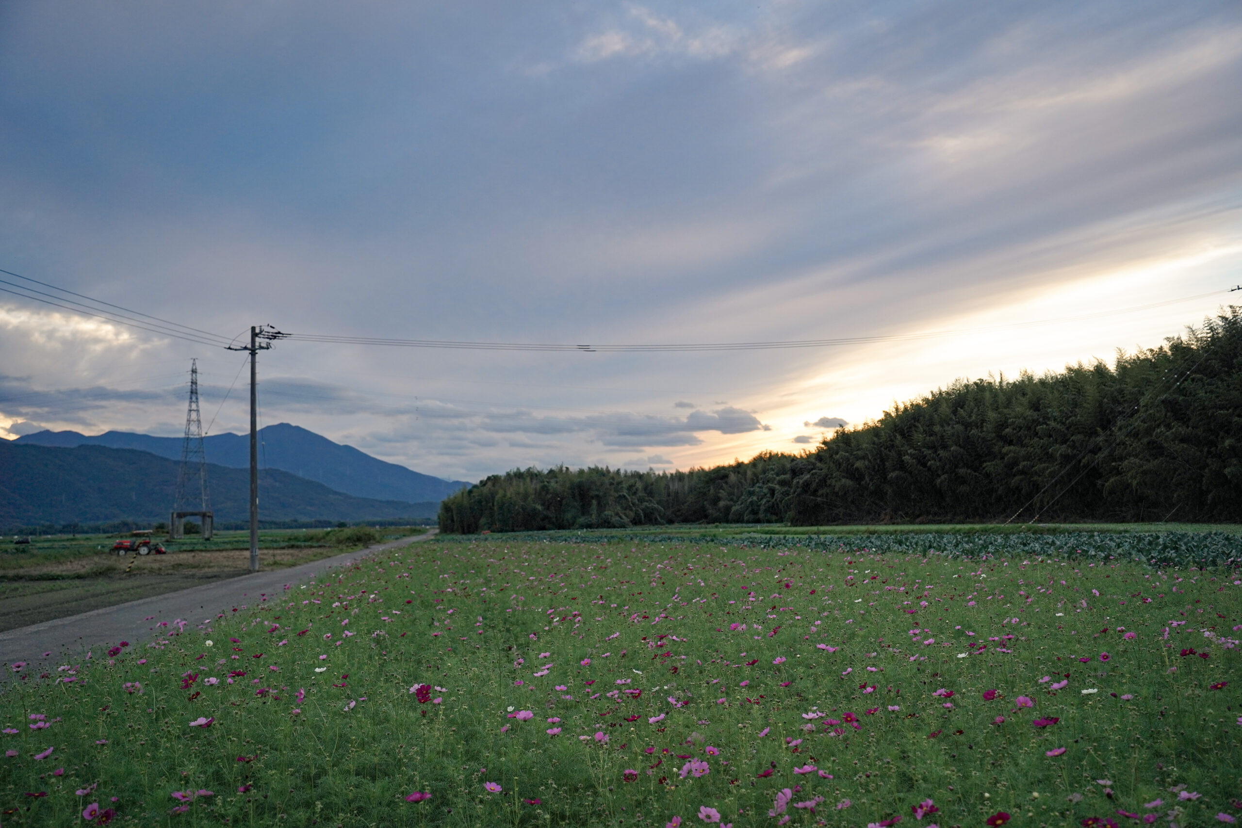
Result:
{"label": "green meadow dotted with pink and crimson cosmos flowers", "polygon": [[190,621],[5,665],[0,823],[1242,819],[1227,565],[441,539]]}

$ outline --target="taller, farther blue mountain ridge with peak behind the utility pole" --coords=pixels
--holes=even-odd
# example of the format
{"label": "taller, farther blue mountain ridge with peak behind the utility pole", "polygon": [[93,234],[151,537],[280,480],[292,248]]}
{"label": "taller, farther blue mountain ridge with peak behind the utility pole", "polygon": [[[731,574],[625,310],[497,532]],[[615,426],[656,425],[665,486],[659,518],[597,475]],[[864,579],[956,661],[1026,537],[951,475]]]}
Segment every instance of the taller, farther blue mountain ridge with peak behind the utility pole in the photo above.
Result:
{"label": "taller, farther blue mountain ridge with peak behind the utility pole", "polygon": [[[334,443],[313,431],[287,422],[261,428],[258,439],[260,468],[289,472],[355,498],[438,503],[453,492],[469,485],[462,480],[442,480],[438,477],[420,474],[396,463],[388,463],[360,452],[353,446]],[[76,448],[78,446],[129,448],[180,461],[183,439],[180,437],[152,437],[150,434],[125,431],[109,431],[89,437],[76,431],[40,431],[24,434],[12,442],[22,446],[57,448]],[[212,434],[202,442],[209,463],[229,468],[250,467],[248,434]]]}

